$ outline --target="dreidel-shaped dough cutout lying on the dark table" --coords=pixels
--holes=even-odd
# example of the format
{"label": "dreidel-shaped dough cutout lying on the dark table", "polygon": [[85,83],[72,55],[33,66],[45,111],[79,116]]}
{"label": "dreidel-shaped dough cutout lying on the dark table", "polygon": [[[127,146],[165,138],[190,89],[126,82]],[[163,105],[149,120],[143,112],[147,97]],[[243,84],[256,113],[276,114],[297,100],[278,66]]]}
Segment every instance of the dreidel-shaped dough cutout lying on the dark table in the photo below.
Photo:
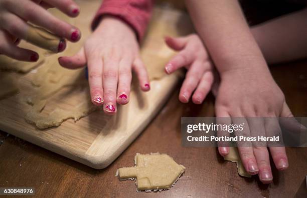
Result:
{"label": "dreidel-shaped dough cutout lying on the dark table", "polygon": [[136,153],[134,163],[134,167],[117,171],[120,179],[136,178],[137,190],[169,189],[185,170],[172,157],[160,153]]}

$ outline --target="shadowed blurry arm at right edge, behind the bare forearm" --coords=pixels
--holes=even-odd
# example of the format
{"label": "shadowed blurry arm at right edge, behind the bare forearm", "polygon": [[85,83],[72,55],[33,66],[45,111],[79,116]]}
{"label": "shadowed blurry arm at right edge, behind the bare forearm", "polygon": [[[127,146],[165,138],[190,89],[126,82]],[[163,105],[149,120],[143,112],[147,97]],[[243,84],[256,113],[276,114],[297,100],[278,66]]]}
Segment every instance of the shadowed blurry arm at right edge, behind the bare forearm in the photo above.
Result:
{"label": "shadowed blurry arm at right edge, behind the bare forearm", "polygon": [[307,9],[251,28],[268,64],[293,61],[307,56]]}

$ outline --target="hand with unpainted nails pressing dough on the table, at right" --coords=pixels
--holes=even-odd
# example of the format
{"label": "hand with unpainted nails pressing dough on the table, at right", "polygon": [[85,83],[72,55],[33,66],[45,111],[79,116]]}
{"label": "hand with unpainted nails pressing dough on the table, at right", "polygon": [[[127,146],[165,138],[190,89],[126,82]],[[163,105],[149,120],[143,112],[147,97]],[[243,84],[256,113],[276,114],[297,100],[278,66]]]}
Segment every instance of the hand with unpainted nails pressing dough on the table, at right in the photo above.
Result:
{"label": "hand with unpainted nails pressing dough on the table, at right", "polygon": [[[274,119],[265,117],[292,116],[282,91],[274,82],[267,69],[245,68],[225,71],[220,74],[221,84],[218,90],[215,109],[217,117],[245,117],[249,129],[244,135],[257,137],[281,134],[280,127]],[[248,117],[259,117],[258,121]],[[262,118],[261,118],[262,117]],[[259,123],[260,120],[260,123]],[[225,121],[224,121],[225,122]],[[266,146],[238,147],[245,169],[250,174],[257,174],[263,183],[272,181],[269,152]],[[279,170],[288,167],[284,147],[269,147],[275,166]],[[219,147],[223,156],[229,152],[228,147]]]}

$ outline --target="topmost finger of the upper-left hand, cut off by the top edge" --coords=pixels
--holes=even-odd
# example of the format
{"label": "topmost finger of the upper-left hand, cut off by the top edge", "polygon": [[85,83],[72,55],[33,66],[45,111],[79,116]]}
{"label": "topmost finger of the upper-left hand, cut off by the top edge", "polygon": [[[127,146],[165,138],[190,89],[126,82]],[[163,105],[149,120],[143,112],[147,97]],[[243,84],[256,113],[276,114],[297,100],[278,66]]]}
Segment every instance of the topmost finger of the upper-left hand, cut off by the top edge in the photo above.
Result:
{"label": "topmost finger of the upper-left hand, cut off by the top edge", "polygon": [[48,0],[48,4],[58,8],[60,11],[71,17],[77,17],[80,12],[79,6],[72,0]]}

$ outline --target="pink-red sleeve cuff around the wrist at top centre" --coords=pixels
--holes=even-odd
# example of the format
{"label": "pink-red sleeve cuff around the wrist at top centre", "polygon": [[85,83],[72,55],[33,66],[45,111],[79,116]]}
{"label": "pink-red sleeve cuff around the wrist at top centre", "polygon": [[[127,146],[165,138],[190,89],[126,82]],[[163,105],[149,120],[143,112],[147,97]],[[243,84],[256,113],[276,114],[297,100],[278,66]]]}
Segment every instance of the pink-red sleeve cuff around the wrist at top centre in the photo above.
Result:
{"label": "pink-red sleeve cuff around the wrist at top centre", "polygon": [[94,30],[103,15],[120,18],[135,31],[141,41],[150,20],[154,0],[104,0],[92,23]]}

